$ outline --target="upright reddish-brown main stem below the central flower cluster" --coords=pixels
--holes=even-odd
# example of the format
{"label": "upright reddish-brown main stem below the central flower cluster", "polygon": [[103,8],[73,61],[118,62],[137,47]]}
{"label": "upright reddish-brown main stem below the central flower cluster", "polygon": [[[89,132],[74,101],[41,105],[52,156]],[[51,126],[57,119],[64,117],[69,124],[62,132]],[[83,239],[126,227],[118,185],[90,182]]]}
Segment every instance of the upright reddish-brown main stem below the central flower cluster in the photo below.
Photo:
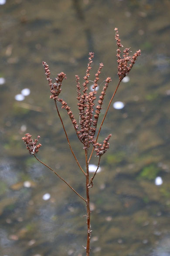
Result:
{"label": "upright reddish-brown main stem below the central flower cluster", "polygon": [[86,162],[86,208],[87,208],[87,245],[86,245],[86,256],[89,256],[90,253],[90,237],[91,237],[91,227],[90,227],[90,195],[89,195],[89,170],[88,170],[88,159],[87,159],[88,150],[85,151],[85,162]]}

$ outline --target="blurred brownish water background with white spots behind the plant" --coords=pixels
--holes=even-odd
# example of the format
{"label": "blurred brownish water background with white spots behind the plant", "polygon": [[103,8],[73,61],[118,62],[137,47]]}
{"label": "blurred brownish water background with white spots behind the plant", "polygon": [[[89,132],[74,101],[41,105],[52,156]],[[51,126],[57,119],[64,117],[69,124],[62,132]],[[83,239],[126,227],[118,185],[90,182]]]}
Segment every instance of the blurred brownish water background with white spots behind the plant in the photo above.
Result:
{"label": "blurred brownish water background with white spots behind the plant", "polygon": [[[102,128],[99,141],[112,138],[91,190],[91,255],[170,256],[169,15],[169,0],[0,0],[0,256],[85,255],[85,204],[28,154],[21,137],[40,135],[38,157],[85,194],[41,63],[53,79],[67,74],[61,98],[78,119],[75,74],[82,83],[94,51],[90,79],[101,62],[99,91],[112,77],[103,116],[119,81],[115,27],[122,45],[142,55]],[[61,116],[84,166],[65,110]]]}

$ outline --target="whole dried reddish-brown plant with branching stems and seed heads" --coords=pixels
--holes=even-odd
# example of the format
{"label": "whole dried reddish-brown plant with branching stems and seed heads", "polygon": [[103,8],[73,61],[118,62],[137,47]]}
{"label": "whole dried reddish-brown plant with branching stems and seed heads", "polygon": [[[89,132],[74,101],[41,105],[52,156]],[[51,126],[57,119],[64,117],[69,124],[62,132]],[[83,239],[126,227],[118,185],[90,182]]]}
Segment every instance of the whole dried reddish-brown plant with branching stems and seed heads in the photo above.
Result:
{"label": "whole dried reddish-brown plant with branching stems and seed heads", "polygon": [[[61,120],[61,124],[62,124],[63,130],[65,132],[65,136],[67,138],[71,153],[73,154],[75,161],[77,162],[78,167],[82,171],[83,175],[85,175],[86,197],[81,196],[77,191],[75,191],[75,189],[72,188],[72,186],[70,184],[68,184],[68,182],[65,181],[65,179],[61,178],[61,176],[57,172],[55,172],[51,167],[44,164],[41,160],[39,160],[37,158],[36,154],[37,154],[39,148],[41,147],[41,144],[37,145],[37,141],[39,140],[40,136],[38,136],[37,139],[35,141],[33,141],[32,136],[29,133],[27,133],[27,134],[25,134],[25,137],[22,138],[22,140],[24,140],[24,143],[25,143],[29,153],[34,155],[34,157],[37,159],[37,161],[41,162],[41,164],[45,165],[52,172],[54,172],[55,175],[57,175],[63,182],[65,182],[85,202],[86,208],[87,208],[87,213],[85,215],[87,217],[87,245],[85,247],[86,256],[89,256],[89,253],[90,253],[90,238],[91,238],[91,233],[92,233],[91,225],[90,225],[91,210],[90,210],[89,189],[93,187],[93,180],[95,178],[97,171],[99,170],[100,159],[101,159],[102,155],[105,154],[105,152],[109,149],[109,139],[112,136],[111,134],[109,134],[108,137],[105,138],[105,140],[103,141],[103,144],[100,144],[98,142],[99,133],[102,129],[102,125],[104,123],[105,117],[109,110],[109,106],[112,102],[112,99],[114,98],[114,96],[116,94],[119,84],[121,83],[122,79],[127,74],[129,74],[130,70],[132,69],[132,67],[136,61],[136,58],[141,54],[140,50],[138,50],[138,51],[136,51],[136,53],[134,53],[134,55],[132,57],[130,57],[129,56],[130,48],[125,48],[123,50],[123,55],[121,56],[120,49],[123,46],[119,39],[118,29],[115,28],[115,31],[116,31],[115,39],[116,39],[117,47],[118,47],[116,56],[117,56],[117,62],[118,62],[119,83],[117,84],[117,87],[112,95],[112,98],[110,99],[109,105],[105,111],[105,115],[102,119],[102,123],[99,126],[99,130],[98,130],[98,133],[96,136],[95,136],[95,134],[96,134],[96,130],[97,130],[99,114],[102,109],[102,104],[103,104],[103,100],[105,97],[105,93],[106,93],[109,83],[112,81],[110,77],[107,77],[105,79],[105,85],[103,86],[101,95],[99,96],[98,105],[95,106],[95,100],[96,100],[96,94],[97,94],[96,88],[98,87],[99,75],[101,73],[103,64],[100,63],[100,65],[99,65],[99,69],[98,69],[97,73],[95,74],[95,81],[92,86],[92,91],[90,91],[90,92],[88,92],[88,83],[89,83],[88,79],[90,76],[90,70],[92,69],[91,64],[92,64],[92,59],[94,57],[94,53],[89,53],[88,67],[87,67],[86,74],[84,77],[84,83],[82,84],[82,91],[81,91],[81,86],[80,86],[80,82],[79,82],[80,78],[78,77],[78,75],[75,76],[76,77],[76,86],[77,86],[77,100],[78,100],[77,105],[78,105],[78,109],[79,109],[79,125],[78,125],[78,122],[75,119],[75,116],[73,115],[73,112],[71,111],[71,108],[68,106],[67,102],[65,102],[62,98],[59,98],[59,94],[61,93],[61,85],[62,85],[63,79],[66,79],[66,74],[61,72],[60,74],[58,74],[58,77],[55,78],[55,83],[52,83],[52,79],[50,78],[51,73],[50,73],[48,64],[46,62],[43,62],[45,75],[47,77],[47,81],[48,81],[48,84],[50,86],[50,91],[51,91],[50,98],[54,100],[54,104],[55,104],[56,110],[58,112],[58,116]],[[57,102],[61,103],[61,109],[65,109],[67,111],[68,116],[71,119],[71,123],[74,126],[75,133],[77,134],[77,137],[80,140],[80,142],[83,144],[83,150],[85,152],[85,165],[86,165],[85,170],[80,165],[78,159],[75,156],[75,153],[72,150],[70,140],[68,139],[68,135],[65,130],[64,123],[62,121],[62,118],[61,118],[59,110],[58,110]],[[92,145],[92,150],[91,150],[91,152],[89,152],[91,145]],[[99,157],[98,165],[97,165],[94,175],[92,175],[92,177],[90,177],[88,167],[89,167],[89,162],[92,158],[92,154],[94,153],[94,151],[95,151],[96,155]]]}

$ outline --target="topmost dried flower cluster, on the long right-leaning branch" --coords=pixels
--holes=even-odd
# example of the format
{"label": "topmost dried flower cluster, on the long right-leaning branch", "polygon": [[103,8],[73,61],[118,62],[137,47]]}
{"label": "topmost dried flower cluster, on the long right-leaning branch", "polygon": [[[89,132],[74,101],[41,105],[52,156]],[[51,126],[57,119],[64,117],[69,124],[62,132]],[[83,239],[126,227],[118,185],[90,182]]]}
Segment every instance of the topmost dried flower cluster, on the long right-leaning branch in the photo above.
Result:
{"label": "topmost dried flower cluster, on the long right-leaning branch", "polygon": [[[122,80],[124,77],[126,77],[127,74],[129,74],[130,70],[132,69],[134,63],[136,62],[136,59],[139,55],[141,55],[141,51],[138,50],[136,51],[136,53],[134,53],[134,55],[131,57],[129,56],[129,52],[130,52],[130,48],[125,48],[123,50],[123,56],[121,58],[120,53],[121,50],[120,48],[123,47],[121,44],[121,40],[119,39],[119,32],[118,29],[115,28],[116,31],[116,36],[115,39],[117,41],[117,62],[118,62],[118,76],[119,76],[119,80]],[[129,64],[130,62],[130,64]]]}

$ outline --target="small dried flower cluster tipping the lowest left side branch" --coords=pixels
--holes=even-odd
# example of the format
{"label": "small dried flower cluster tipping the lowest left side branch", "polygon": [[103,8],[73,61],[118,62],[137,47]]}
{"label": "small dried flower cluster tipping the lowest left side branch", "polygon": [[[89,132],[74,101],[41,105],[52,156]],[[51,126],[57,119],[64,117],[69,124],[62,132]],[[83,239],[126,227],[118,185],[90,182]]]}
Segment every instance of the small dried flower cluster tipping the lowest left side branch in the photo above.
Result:
{"label": "small dried flower cluster tipping the lowest left side branch", "polygon": [[39,148],[41,147],[41,144],[37,145],[38,140],[40,139],[40,136],[37,136],[37,139],[33,141],[32,135],[30,133],[26,133],[25,137],[22,138],[24,140],[24,144],[27,147],[27,150],[30,154],[36,154],[39,151]]}

